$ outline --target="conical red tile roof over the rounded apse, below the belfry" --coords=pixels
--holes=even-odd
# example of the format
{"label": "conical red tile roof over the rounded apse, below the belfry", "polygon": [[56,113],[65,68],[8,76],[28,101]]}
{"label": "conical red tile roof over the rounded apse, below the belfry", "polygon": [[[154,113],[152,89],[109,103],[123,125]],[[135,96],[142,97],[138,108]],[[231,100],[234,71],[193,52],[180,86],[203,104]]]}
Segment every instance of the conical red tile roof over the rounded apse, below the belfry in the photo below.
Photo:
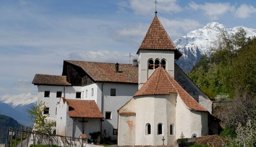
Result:
{"label": "conical red tile roof over the rounded apse, below the belfry", "polygon": [[162,67],[158,67],[147,82],[135,93],[133,97],[147,95],[169,95],[177,93],[184,104],[195,111],[207,111],[178,82]]}

